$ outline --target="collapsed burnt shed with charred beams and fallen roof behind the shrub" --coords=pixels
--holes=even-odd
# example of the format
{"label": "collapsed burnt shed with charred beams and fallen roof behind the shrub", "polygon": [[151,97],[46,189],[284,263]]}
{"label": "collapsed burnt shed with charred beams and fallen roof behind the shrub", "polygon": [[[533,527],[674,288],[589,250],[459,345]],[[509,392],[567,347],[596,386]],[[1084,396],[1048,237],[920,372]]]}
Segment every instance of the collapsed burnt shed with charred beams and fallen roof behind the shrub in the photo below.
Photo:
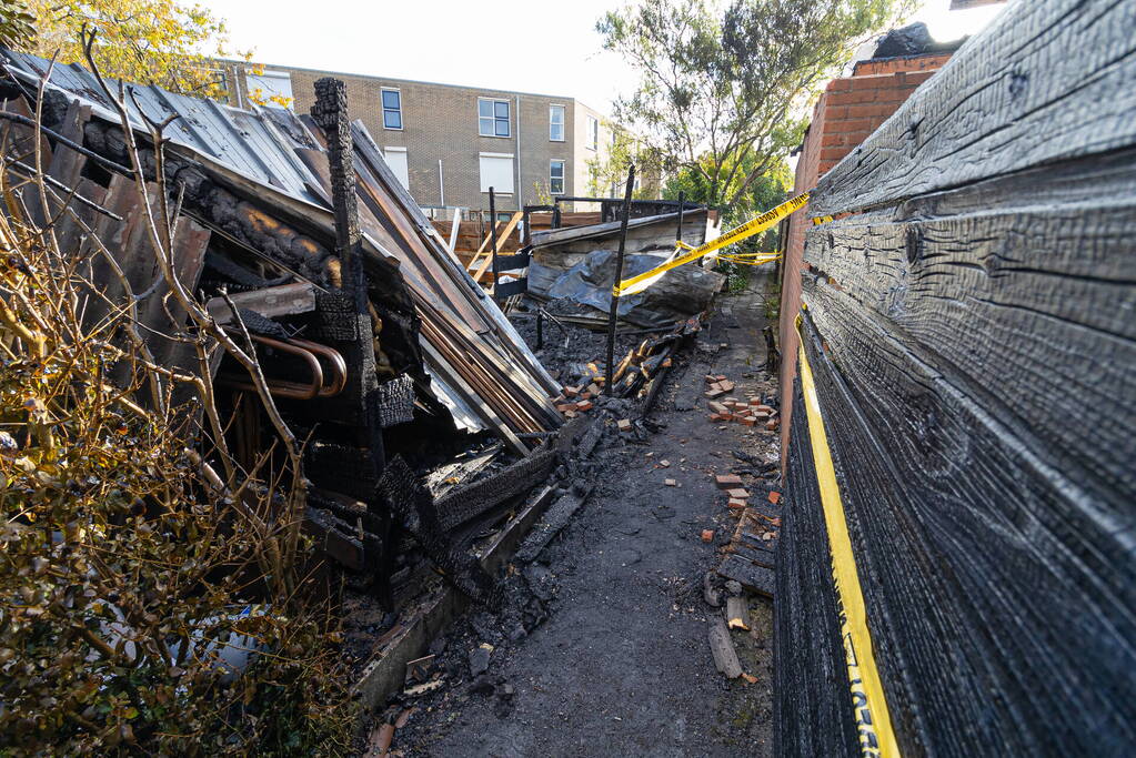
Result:
{"label": "collapsed burnt shed with charred beams and fallen roof behind the shrub", "polygon": [[[48,208],[39,193],[24,197],[102,288],[85,318],[130,292],[154,362],[206,381],[237,465],[281,454],[245,368],[215,345],[202,362],[170,337],[193,323],[169,297],[148,234],[151,209],[166,208],[177,279],[252,346],[302,444],[303,528],[325,563],[386,610],[420,563],[481,595],[485,578],[461,557],[463,540],[549,474],[540,444],[562,424],[550,402],[560,387],[348,120],[342,85],[321,81],[311,115],[130,84],[116,102],[117,83],[103,89],[82,67],[49,75],[42,59],[5,57],[6,165],[26,174],[39,132]],[[184,389],[193,386],[173,398],[191,420],[207,405]],[[487,466],[503,470],[462,489]]]}

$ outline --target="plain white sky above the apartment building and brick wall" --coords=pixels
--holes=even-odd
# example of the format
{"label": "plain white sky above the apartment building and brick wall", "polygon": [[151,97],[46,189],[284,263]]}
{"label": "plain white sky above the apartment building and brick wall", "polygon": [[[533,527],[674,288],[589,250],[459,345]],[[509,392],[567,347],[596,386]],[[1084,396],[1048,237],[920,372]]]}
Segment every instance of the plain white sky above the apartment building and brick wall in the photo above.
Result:
{"label": "plain white sky above the apartment building and brick wall", "polygon": [[[256,60],[351,74],[571,96],[610,112],[634,86],[600,50],[611,0],[197,0],[225,18]],[[980,30],[999,6],[947,11],[927,0],[914,20],[939,41]]]}

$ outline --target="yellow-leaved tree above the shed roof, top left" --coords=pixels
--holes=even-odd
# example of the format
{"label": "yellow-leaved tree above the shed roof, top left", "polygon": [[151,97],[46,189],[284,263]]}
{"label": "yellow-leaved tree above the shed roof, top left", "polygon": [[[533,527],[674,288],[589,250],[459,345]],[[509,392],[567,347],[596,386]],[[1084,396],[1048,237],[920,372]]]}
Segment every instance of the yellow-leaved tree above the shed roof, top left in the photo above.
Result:
{"label": "yellow-leaved tree above the shed roof, top left", "polygon": [[[94,60],[106,76],[194,96],[226,95],[211,58],[232,56],[225,22],[175,0],[26,0],[36,34],[20,49],[62,64],[84,61],[80,32],[98,31]],[[248,58],[248,56],[243,56]]]}

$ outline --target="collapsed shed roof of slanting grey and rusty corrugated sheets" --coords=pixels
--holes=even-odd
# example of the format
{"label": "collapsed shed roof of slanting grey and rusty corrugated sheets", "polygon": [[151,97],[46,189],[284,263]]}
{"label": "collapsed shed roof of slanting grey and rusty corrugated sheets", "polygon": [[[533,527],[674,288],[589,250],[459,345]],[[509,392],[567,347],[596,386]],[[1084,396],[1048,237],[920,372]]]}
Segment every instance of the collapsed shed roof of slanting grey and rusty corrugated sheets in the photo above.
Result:
{"label": "collapsed shed roof of slanting grey and rusty corrugated sheets", "polygon": [[[6,51],[8,69],[33,85],[48,61]],[[128,85],[126,108],[145,133],[139,109],[166,129],[170,152],[190,158],[234,191],[309,227],[334,229],[324,136],[306,116],[284,109],[243,110],[156,86]],[[98,79],[77,65],[50,69],[48,91],[78,100],[92,116],[118,124]],[[515,448],[517,435],[560,423],[549,396],[559,389],[488,295],[469,277],[401,186],[361,123],[352,125],[359,221],[368,266],[394,267],[421,320],[432,389],[467,429],[493,429]]]}

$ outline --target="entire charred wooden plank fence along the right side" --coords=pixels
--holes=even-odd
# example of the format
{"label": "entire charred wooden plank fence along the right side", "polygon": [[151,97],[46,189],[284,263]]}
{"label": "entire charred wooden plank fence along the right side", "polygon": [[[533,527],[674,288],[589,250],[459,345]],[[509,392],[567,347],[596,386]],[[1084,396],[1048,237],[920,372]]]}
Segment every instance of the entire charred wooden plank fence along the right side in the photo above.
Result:
{"label": "entire charred wooden plank fence along the right side", "polygon": [[[778,755],[1136,750],[1134,25],[1011,5],[812,197]],[[886,719],[849,674],[834,513]]]}

